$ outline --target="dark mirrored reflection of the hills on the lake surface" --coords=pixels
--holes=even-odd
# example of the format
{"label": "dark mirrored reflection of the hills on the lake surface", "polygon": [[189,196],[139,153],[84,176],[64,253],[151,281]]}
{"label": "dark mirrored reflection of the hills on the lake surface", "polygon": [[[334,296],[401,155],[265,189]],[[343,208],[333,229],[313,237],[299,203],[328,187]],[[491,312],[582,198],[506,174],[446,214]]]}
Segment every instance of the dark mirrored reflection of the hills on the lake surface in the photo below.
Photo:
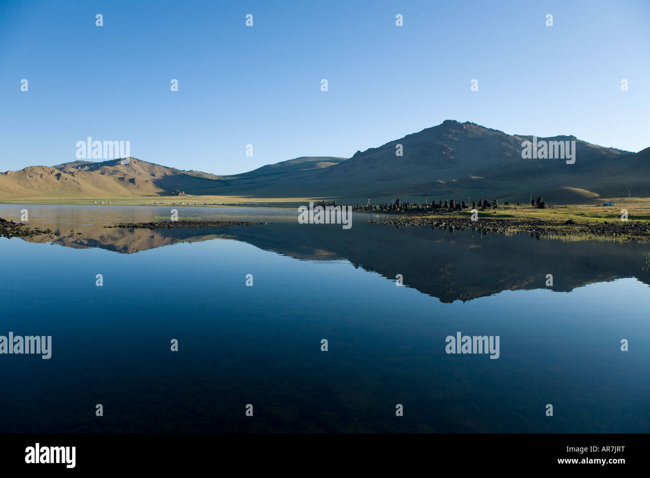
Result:
{"label": "dark mirrored reflection of the hills on the lake surface", "polygon": [[[404,285],[441,302],[471,300],[516,289],[567,292],[582,285],[625,277],[650,284],[650,248],[637,243],[565,242],[528,235],[481,235],[469,230],[394,228],[365,224],[361,220],[370,215],[363,213],[355,215],[350,230],[342,230],[336,225],[298,224],[296,211],[264,209],[191,208],[191,213],[181,209],[181,214],[203,219],[209,214],[222,219],[265,219],[269,221],[265,226],[187,230],[103,227],[111,222],[107,219],[151,220],[151,211],[143,216],[126,208],[114,209],[118,212],[98,217],[99,224],[90,224],[88,220],[79,224],[79,218],[64,223],[44,220],[42,224],[56,228],[55,233],[25,240],[135,254],[181,242],[235,239],[296,259],[347,260],[354,267],[377,272],[389,280],[402,274]],[[129,214],[125,215],[127,211]],[[162,214],[159,211],[157,217]],[[546,285],[547,274],[553,276],[552,286]]]}

